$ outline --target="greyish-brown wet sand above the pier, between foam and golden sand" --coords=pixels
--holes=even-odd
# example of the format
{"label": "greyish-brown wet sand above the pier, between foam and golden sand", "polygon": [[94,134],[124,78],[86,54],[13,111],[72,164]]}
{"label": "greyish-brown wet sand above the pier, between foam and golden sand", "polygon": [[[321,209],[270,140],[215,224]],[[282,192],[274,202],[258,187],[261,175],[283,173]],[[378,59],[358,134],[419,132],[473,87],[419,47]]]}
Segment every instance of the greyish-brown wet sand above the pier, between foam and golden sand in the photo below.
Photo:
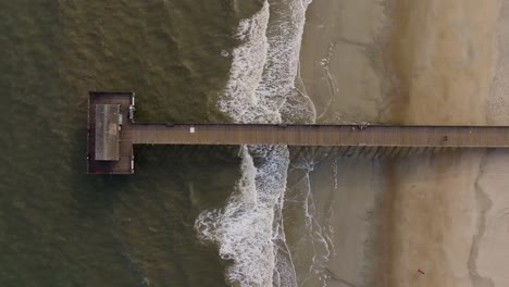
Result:
{"label": "greyish-brown wet sand above the pier, between foam and golden sand", "polygon": [[300,63],[316,123],[377,122],[390,88],[381,57],[384,10],[371,0],[315,0],[309,7]]}

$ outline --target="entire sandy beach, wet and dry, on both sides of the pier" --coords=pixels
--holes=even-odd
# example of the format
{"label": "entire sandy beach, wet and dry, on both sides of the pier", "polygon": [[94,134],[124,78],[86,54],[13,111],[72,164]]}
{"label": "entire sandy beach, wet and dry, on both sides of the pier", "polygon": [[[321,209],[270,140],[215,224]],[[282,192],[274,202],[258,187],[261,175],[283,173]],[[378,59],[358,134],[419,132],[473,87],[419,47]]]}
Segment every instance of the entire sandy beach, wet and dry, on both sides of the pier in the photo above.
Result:
{"label": "entire sandy beach, wet and dry, on both sides of the pier", "polygon": [[[307,15],[316,122],[509,125],[509,1],[314,0]],[[508,167],[505,150],[321,162],[327,286],[509,286]]]}

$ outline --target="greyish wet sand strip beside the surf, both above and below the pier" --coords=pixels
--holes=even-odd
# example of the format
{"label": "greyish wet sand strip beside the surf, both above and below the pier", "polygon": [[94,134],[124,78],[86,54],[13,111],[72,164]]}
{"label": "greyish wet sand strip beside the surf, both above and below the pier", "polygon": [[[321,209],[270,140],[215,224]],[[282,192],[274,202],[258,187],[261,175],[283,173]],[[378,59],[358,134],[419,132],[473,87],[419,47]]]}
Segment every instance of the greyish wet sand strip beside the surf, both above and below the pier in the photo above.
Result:
{"label": "greyish wet sand strip beside the surf, both above and below the pier", "polygon": [[[380,123],[395,101],[384,97],[393,90],[383,64],[388,10],[371,0],[314,0],[309,7],[300,75],[316,123]],[[315,216],[333,230],[323,267],[328,287],[370,286],[375,277],[382,167],[381,161],[330,157],[310,173]]]}

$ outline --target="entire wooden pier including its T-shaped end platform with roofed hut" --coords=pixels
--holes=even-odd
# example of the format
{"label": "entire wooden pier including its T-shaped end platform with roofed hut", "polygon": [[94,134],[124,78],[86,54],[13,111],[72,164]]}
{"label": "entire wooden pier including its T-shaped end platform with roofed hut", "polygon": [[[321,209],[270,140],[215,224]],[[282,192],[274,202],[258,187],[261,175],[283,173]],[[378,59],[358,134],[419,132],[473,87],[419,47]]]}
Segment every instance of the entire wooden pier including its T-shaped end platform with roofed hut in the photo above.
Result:
{"label": "entire wooden pier including its T-shaped end platform with roofed hut", "polygon": [[[133,92],[91,91],[88,107],[88,173],[131,174],[133,145],[288,145],[402,148],[509,148],[506,126],[395,126],[135,123]],[[120,105],[117,125],[97,123],[99,105]],[[101,117],[100,117],[101,118]],[[102,121],[102,120],[98,120]],[[97,160],[103,135],[119,128],[119,160]],[[101,129],[102,128],[102,129]],[[109,137],[115,140],[114,136]],[[97,154],[96,154],[97,153]],[[111,152],[110,152],[111,153]]]}

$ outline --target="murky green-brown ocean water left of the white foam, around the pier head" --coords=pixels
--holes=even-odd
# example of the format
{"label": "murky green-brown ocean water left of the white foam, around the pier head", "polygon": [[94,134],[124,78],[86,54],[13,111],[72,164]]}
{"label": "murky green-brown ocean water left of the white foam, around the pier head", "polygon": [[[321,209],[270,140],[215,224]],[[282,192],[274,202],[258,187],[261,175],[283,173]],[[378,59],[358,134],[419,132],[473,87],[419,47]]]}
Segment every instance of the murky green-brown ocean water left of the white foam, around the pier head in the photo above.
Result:
{"label": "murky green-brown ocean water left of the white foam, around the pier head", "polygon": [[0,286],[225,286],[197,214],[224,203],[238,147],[141,147],[88,176],[88,90],[133,90],[142,121],[216,111],[246,1],[0,1]]}

